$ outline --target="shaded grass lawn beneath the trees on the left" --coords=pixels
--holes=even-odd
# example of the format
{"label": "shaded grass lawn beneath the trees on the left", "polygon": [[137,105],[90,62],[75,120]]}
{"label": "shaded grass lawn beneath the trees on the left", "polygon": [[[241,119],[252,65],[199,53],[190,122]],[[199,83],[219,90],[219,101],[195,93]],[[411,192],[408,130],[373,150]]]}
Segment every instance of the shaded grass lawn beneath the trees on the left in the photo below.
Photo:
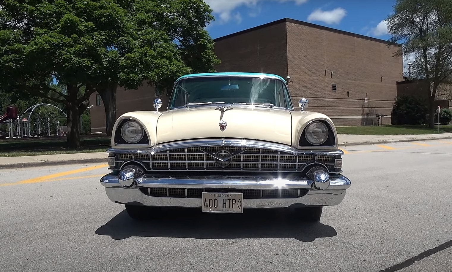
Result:
{"label": "shaded grass lawn beneath the trees on the left", "polygon": [[80,148],[66,148],[66,137],[0,139],[0,157],[105,152],[111,146],[110,137],[80,135]]}

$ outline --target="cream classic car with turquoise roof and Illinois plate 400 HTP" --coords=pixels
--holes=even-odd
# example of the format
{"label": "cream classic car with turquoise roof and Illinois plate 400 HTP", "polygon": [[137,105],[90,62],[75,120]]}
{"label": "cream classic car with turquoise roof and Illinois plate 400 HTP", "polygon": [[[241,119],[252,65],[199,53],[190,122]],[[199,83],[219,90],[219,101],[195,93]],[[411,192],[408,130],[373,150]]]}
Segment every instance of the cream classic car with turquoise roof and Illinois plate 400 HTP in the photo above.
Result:
{"label": "cream classic car with turquoise roof and Illinois plate 400 HTP", "polygon": [[[287,77],[290,78],[290,77]],[[244,213],[293,208],[319,221],[350,180],[333,121],[296,110],[288,80],[274,74],[207,73],[178,78],[166,111],[131,111],[113,127],[108,198],[133,219],[162,207]]]}

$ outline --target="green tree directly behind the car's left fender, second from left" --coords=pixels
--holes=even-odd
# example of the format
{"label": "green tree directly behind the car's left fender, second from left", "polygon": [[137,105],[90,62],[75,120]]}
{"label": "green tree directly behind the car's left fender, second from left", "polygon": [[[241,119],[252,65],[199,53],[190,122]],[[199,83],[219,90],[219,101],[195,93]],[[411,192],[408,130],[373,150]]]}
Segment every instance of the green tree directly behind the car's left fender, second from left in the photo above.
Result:
{"label": "green tree directly behind the car's left fender, second from left", "polygon": [[[212,10],[204,1],[144,0],[137,1],[127,12],[134,26],[134,39],[145,50],[140,51],[135,60],[123,62],[122,66],[109,65],[105,69],[108,80],[99,86],[98,92],[104,102],[106,130],[109,136],[116,121],[118,86],[134,89],[143,81],[147,81],[156,88],[168,89],[179,76],[212,72],[213,65],[219,63],[213,52],[214,42],[204,29],[214,19],[211,15]],[[175,57],[177,62],[162,61],[155,65],[152,61],[154,56],[146,55],[150,50],[155,51],[152,46],[160,42],[170,42],[165,51],[177,55]],[[117,52],[116,56],[119,59],[124,58],[120,47],[113,50]]]}

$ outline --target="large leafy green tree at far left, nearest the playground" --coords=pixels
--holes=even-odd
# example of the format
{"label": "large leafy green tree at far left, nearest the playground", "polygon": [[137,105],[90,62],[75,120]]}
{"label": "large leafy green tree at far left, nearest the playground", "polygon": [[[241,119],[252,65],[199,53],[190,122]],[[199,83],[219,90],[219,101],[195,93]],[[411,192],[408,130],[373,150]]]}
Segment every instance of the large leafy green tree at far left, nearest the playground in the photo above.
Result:
{"label": "large leafy green tree at far left, nearest the playground", "polygon": [[[171,1],[3,0],[0,84],[9,92],[65,105],[67,145],[77,148],[79,118],[92,93],[118,85],[136,88],[143,80],[189,71],[178,42],[162,27],[165,20],[147,13],[151,7],[165,11],[166,2]],[[200,5],[198,0],[178,2],[188,14]],[[48,84],[52,77],[66,86],[65,92]]]}

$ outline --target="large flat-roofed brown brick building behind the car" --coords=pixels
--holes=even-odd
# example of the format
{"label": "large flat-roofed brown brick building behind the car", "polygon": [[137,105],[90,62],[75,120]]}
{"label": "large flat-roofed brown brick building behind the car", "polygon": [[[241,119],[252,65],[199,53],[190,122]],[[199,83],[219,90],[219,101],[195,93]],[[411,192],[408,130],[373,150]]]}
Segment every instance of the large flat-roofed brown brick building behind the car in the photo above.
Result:
{"label": "large flat-roofed brown brick building behind the car", "polygon": [[[403,60],[394,56],[401,45],[289,18],[215,39],[221,60],[218,72],[263,72],[289,75],[296,110],[301,97],[308,110],[329,115],[336,125],[370,125],[387,115],[403,80]],[[154,110],[155,90],[118,88],[117,116],[126,111]],[[168,97],[161,97],[162,111]],[[92,132],[105,131],[104,107],[91,96]]]}

